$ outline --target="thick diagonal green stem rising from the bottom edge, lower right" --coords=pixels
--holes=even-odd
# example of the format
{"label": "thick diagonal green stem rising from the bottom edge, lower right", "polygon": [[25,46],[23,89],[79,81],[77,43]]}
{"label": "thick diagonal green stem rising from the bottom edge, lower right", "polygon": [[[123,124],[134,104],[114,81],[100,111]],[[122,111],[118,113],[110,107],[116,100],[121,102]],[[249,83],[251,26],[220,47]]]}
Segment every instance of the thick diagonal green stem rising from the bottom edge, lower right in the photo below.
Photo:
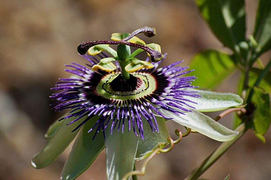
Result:
{"label": "thick diagonal green stem rising from the bottom edge, lower right", "polygon": [[239,125],[235,131],[239,131],[238,136],[231,141],[222,143],[209,157],[207,157],[198,167],[196,167],[184,180],[196,180],[209,167],[211,167],[245,132],[248,130],[245,123]]}

